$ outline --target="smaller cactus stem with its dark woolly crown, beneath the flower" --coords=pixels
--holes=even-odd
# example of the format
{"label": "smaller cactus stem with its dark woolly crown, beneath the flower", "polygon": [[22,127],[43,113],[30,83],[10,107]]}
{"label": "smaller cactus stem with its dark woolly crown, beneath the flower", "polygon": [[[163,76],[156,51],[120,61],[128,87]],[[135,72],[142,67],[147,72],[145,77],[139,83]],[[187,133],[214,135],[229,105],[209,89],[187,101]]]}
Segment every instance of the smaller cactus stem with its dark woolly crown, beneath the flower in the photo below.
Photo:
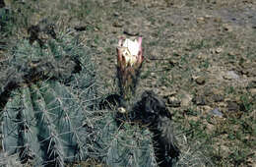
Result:
{"label": "smaller cactus stem with its dark woolly crown, beneath the flower", "polygon": [[[108,124],[105,123],[109,125],[106,130],[112,132],[112,135],[108,135],[108,137],[113,137],[108,139],[111,140],[108,145],[118,147],[121,150],[127,148],[126,156],[134,156],[130,163],[126,161],[129,159],[128,157],[118,154],[118,151],[113,151],[107,155],[107,157],[111,157],[111,160],[108,161],[109,166],[165,167],[172,166],[177,162],[180,151],[173,134],[171,115],[167,111],[164,101],[157,94],[153,91],[144,91],[141,98],[133,103],[130,102],[129,105],[127,103],[124,105],[121,96],[117,94],[111,94],[106,99],[110,103],[108,107],[116,106],[125,110],[124,113],[117,111],[112,116],[114,117],[112,122],[115,124],[110,124],[111,121]],[[111,129],[110,125],[116,125],[115,129]],[[115,131],[116,129],[119,130]],[[128,146],[128,143],[133,143],[133,145]],[[109,149],[111,151],[115,150],[112,147],[109,147]],[[144,153],[140,154],[138,152]],[[137,163],[136,158],[139,158],[141,163]],[[146,161],[146,159],[149,161]],[[111,163],[112,161],[115,163]]]}

